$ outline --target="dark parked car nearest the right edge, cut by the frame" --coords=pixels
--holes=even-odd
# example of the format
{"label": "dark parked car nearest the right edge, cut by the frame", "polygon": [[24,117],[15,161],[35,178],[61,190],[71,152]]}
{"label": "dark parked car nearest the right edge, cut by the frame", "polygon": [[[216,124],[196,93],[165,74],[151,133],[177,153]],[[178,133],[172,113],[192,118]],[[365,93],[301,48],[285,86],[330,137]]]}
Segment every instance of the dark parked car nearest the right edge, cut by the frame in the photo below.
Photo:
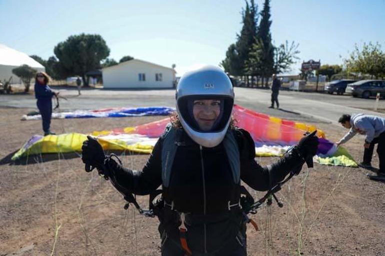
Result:
{"label": "dark parked car nearest the right edge, cut by the frame", "polygon": [[351,83],[346,87],[346,93],[351,94],[353,97],[369,98],[370,96],[376,96],[377,92],[381,97],[385,96],[385,81],[382,80],[361,80],[355,83]]}

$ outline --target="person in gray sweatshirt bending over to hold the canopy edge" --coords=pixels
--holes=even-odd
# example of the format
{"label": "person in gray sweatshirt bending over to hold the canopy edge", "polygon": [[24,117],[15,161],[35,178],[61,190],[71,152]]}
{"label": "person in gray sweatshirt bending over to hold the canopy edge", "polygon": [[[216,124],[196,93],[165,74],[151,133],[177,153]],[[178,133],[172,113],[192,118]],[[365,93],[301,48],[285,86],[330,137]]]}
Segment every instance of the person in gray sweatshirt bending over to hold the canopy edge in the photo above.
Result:
{"label": "person in gray sweatshirt bending over to hold the canopy edge", "polygon": [[371,156],[374,150],[374,144],[378,143],[377,153],[379,159],[378,174],[385,175],[385,118],[364,114],[342,115],[338,122],[346,129],[350,129],[337,143],[337,147],[355,134],[366,135],[363,144],[363,161],[359,166],[364,168],[371,167]]}

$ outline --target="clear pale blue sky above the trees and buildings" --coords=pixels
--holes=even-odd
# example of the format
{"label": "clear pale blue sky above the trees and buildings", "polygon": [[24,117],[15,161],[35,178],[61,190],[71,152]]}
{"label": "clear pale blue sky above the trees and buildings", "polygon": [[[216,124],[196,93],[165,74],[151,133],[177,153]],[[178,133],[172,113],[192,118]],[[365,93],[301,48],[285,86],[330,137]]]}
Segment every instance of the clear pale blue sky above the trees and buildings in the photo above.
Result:
{"label": "clear pale blue sky above the trees and buildings", "polygon": [[[263,0],[255,2],[260,11]],[[175,64],[179,76],[224,59],[244,6],[244,0],[0,0],[0,44],[47,59],[70,35],[100,34],[109,58]],[[288,73],[309,59],[342,64],[363,42],[385,50],[385,0],[271,0],[270,7],[273,43],[299,43]]]}

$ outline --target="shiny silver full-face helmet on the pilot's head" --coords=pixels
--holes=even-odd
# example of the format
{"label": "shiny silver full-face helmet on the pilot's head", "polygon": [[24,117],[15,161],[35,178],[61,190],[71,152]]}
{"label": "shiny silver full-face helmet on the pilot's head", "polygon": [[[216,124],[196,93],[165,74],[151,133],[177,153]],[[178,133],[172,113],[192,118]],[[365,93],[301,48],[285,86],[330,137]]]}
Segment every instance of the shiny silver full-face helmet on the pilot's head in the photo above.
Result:
{"label": "shiny silver full-face helmet on the pilot's head", "polygon": [[[234,91],[228,76],[218,67],[204,66],[185,73],[176,87],[176,111],[188,136],[204,147],[215,147],[224,138],[231,119]],[[220,100],[220,114],[210,131],[203,131],[192,115],[193,100]]]}

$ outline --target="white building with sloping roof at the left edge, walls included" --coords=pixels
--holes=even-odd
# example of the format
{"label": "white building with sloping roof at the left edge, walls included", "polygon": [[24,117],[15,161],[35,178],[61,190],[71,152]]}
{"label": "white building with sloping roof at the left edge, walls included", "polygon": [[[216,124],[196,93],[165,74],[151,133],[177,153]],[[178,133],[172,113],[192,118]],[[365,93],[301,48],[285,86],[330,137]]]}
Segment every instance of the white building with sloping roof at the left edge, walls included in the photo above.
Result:
{"label": "white building with sloping roof at the left edge, walls included", "polygon": [[8,80],[12,76],[11,83],[21,83],[20,78],[12,73],[12,69],[24,64],[37,71],[45,71],[43,65],[27,54],[0,44],[0,81]]}

